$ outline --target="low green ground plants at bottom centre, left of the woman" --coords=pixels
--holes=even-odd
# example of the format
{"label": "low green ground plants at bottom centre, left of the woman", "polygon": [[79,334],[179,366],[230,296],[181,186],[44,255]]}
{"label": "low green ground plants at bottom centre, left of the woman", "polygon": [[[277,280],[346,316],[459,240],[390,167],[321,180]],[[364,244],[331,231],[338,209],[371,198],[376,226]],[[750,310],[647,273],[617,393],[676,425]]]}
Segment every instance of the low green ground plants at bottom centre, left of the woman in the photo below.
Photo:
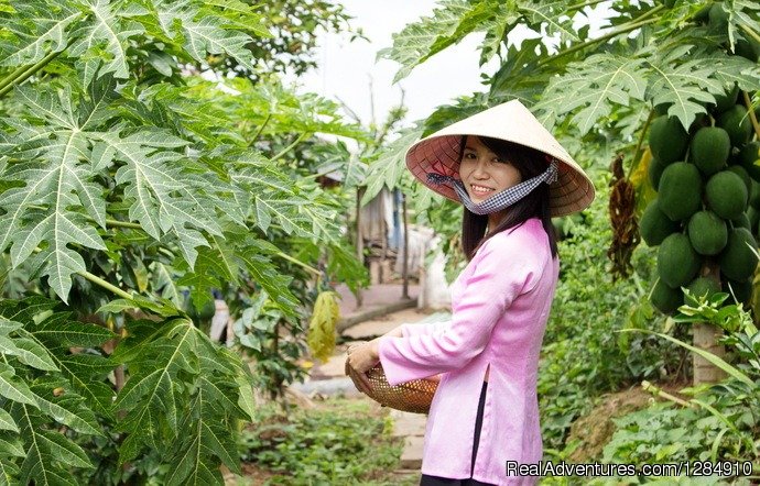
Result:
{"label": "low green ground plants at bottom centre, left of the woman", "polygon": [[397,466],[401,446],[390,432],[388,419],[370,415],[366,401],[330,399],[329,408],[290,417],[259,409],[238,449],[243,462],[276,473],[268,484],[398,484],[370,481]]}

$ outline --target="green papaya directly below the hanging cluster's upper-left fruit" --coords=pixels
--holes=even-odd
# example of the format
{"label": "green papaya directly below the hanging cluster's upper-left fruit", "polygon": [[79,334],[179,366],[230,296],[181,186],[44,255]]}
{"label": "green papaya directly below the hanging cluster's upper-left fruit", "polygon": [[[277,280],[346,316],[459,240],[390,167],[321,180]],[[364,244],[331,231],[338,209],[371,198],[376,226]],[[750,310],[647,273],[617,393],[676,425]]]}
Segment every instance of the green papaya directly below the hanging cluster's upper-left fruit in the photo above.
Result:
{"label": "green papaya directly below the hanging cluster's upper-left fruit", "polygon": [[[736,176],[734,173],[728,174]],[[660,210],[667,218],[673,221],[690,218],[702,208],[699,169],[694,164],[685,162],[669,165],[662,173],[658,191]]]}

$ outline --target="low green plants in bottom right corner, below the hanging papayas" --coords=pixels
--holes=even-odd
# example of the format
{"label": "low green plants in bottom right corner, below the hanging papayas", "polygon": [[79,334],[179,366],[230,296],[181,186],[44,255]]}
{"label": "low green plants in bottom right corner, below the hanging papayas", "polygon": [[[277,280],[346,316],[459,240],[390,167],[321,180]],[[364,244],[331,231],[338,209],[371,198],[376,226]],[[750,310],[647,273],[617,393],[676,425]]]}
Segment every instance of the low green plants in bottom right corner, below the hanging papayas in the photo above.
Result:
{"label": "low green plants in bottom right corner, below the hanging papayas", "polygon": [[685,408],[658,404],[616,420],[618,431],[605,446],[605,461],[751,461],[757,471],[760,332],[741,305],[724,306],[727,298],[727,294],[688,297],[694,303],[682,306],[674,320],[720,327],[726,332],[721,342],[735,354],[736,364],[670,335],[656,334],[715,363],[728,378],[710,387],[683,390],[693,396]]}

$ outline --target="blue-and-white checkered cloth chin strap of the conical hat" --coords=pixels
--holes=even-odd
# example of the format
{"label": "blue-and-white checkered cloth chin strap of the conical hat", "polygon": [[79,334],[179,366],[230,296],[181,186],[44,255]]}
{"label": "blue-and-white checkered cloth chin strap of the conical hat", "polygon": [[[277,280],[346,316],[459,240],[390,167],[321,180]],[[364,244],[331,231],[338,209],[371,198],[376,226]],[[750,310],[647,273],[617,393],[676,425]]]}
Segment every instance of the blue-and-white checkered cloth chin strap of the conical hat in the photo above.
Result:
{"label": "blue-and-white checkered cloth chin strap of the conical hat", "polygon": [[443,174],[427,174],[427,184],[435,184],[436,186],[445,184],[449,186],[452,189],[454,189],[457,196],[459,196],[459,200],[465,205],[465,207],[476,214],[490,214],[492,212],[501,211],[502,209],[509,208],[520,199],[531,194],[531,191],[539,187],[541,183],[553,184],[556,183],[556,180],[557,163],[552,161],[546,170],[544,170],[542,174],[531,177],[530,179],[524,180],[515,186],[509,187],[501,192],[497,192],[485,201],[476,205],[469,198],[467,189],[465,189],[465,185],[462,180],[455,179],[450,176],[444,176]]}

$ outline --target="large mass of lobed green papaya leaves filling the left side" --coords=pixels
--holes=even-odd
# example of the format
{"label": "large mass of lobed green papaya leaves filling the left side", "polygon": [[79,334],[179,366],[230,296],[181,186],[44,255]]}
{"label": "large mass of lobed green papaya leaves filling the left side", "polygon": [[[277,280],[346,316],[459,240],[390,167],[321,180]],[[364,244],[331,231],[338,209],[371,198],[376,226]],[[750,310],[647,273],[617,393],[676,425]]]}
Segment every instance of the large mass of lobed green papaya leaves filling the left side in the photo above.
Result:
{"label": "large mass of lobed green papaya leaves filling the left side", "polygon": [[[345,19],[311,5],[298,11],[337,15],[317,24]],[[213,292],[232,312],[267,300],[270,336],[293,333],[282,387],[298,376],[312,265],[362,281],[341,240],[346,201],[303,177],[315,161],[302,155],[316,133],[363,132],[257,71],[263,22],[237,0],[2,2],[0,291],[68,305],[9,318],[23,327],[0,335],[10,482],[221,483],[220,465],[239,471],[254,382],[205,333]],[[260,82],[193,76],[222,62]],[[76,319],[105,335],[77,335]]]}

